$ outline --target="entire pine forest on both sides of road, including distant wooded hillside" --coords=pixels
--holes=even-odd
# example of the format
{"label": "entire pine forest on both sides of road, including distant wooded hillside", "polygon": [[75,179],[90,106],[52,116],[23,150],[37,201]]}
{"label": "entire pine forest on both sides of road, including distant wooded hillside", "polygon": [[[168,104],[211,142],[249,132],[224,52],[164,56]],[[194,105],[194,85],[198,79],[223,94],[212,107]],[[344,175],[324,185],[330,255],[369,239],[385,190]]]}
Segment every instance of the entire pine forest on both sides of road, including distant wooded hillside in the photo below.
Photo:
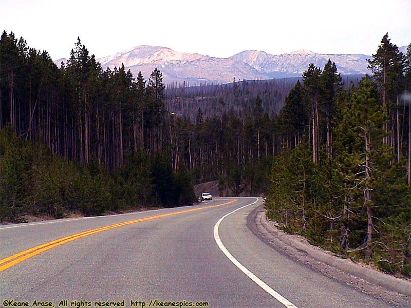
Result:
{"label": "entire pine forest on both sides of road, including distant wooded hillside", "polygon": [[0,220],[189,205],[218,180],[220,196],[268,196],[286,232],[409,275],[411,45],[384,35],[369,68],[166,87],[158,69],[103,70],[80,38],[58,67],[4,31]]}

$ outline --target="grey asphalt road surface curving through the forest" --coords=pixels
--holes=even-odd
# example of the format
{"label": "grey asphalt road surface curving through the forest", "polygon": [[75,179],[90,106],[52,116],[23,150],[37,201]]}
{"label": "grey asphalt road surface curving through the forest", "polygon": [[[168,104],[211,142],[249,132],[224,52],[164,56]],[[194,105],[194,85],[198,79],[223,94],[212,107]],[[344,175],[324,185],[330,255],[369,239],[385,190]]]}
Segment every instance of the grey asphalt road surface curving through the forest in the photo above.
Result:
{"label": "grey asphalt road surface curving through the forest", "polygon": [[[80,300],[91,302],[91,306],[94,301],[121,300],[130,306],[133,300],[141,307],[142,302],[157,299],[207,301],[210,307],[285,307],[287,303],[300,308],[389,307],[294,262],[259,240],[246,226],[247,215],[259,200],[225,217],[218,236],[240,265],[285,299],[278,301],[217,245],[214,229],[219,219],[256,201],[236,199],[231,203],[232,198],[215,198],[173,209],[0,226],[0,305],[5,305],[4,300],[14,300],[28,301],[31,306],[39,300],[58,307],[60,300],[67,299],[68,307]],[[197,210],[200,207],[205,208]],[[43,243],[134,220],[138,221],[49,244],[52,248],[43,248],[43,252],[24,260],[22,257],[30,252],[4,261]],[[4,268],[5,264],[9,267]]]}

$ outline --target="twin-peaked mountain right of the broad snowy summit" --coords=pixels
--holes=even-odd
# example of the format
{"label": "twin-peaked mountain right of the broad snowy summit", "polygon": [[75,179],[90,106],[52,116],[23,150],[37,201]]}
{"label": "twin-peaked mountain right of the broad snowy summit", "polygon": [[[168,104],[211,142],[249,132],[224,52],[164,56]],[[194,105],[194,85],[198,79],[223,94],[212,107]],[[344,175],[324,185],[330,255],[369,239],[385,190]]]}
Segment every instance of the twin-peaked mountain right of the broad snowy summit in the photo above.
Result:
{"label": "twin-peaked mountain right of the broad snowy summit", "polygon": [[231,59],[243,61],[271,78],[301,76],[310,63],[323,68],[328,59],[335,62],[341,74],[369,73],[365,54],[323,54],[310,50],[297,50],[273,55],[264,51],[246,50],[231,56]]}

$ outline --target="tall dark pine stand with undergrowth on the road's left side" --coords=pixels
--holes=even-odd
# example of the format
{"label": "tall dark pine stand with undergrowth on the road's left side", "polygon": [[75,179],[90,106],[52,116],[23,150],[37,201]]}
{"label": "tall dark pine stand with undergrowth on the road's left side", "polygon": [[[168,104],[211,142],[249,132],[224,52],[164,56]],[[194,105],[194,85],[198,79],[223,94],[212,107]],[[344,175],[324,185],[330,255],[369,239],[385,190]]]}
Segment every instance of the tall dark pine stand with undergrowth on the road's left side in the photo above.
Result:
{"label": "tall dark pine stand with undergrowth on the road's left side", "polygon": [[103,70],[80,38],[66,64],[0,38],[0,219],[195,201],[173,164],[162,74]]}

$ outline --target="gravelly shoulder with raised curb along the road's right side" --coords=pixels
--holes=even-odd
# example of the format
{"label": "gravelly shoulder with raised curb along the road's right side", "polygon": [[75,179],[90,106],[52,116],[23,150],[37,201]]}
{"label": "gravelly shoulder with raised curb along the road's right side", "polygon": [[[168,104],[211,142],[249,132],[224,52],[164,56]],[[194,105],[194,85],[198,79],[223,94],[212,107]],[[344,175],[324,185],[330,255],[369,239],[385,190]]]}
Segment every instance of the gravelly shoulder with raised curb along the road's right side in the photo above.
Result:
{"label": "gravelly shoulder with raised curb along the road's right side", "polygon": [[266,219],[264,205],[251,211],[247,217],[247,226],[277,252],[286,254],[323,275],[396,305],[408,306],[411,301],[410,282],[334,256],[324,249],[297,240],[296,236],[282,232],[273,222]]}

